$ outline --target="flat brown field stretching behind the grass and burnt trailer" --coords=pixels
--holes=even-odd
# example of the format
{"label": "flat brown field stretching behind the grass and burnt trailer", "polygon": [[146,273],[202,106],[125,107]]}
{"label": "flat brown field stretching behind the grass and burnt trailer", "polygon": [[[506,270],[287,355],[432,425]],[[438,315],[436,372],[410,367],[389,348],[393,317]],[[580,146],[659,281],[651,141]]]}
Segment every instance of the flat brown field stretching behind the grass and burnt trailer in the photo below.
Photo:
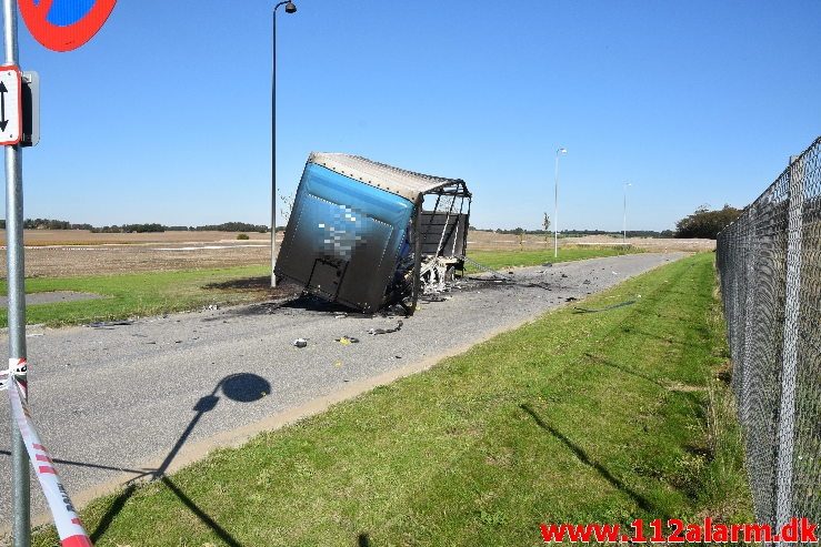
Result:
{"label": "flat brown field stretching behind the grass and burnt trailer", "polygon": [[[4,231],[0,236],[6,240]],[[230,267],[268,264],[271,260],[270,235],[248,233],[249,240],[237,240],[238,232],[164,232],[148,234],[92,234],[86,230],[27,230],[26,275],[74,276],[128,272],[163,272],[178,270]],[[278,240],[281,234],[278,234]],[[492,232],[468,234],[468,249],[538,250],[552,249],[551,237]],[[618,245],[611,236],[560,239],[560,246]],[[712,240],[629,239],[631,245],[650,251],[709,251]],[[6,275],[6,247],[0,247],[0,273]]]}

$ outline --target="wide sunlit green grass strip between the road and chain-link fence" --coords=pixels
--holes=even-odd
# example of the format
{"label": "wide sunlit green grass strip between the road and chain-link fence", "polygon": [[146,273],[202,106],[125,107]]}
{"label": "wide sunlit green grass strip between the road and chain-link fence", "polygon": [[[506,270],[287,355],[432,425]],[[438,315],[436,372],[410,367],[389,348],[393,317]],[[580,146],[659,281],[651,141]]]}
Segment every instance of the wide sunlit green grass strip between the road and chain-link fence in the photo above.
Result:
{"label": "wide sunlit green grass strip between the road and chain-link fence", "polygon": [[537,546],[540,523],[751,519],[712,255],[585,306],[633,298],[547,314],[84,523],[98,546]]}

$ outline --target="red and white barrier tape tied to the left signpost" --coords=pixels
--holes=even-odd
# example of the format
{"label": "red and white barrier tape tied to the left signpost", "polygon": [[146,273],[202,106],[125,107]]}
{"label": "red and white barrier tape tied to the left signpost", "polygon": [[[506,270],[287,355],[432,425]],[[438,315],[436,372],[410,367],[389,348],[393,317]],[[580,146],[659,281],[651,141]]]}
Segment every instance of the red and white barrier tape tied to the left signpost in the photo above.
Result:
{"label": "red and white barrier tape tied to the left signpost", "polygon": [[[21,396],[26,393],[26,382],[16,377],[16,374],[24,373],[26,359],[9,359],[8,391],[11,401],[11,414],[17,422],[20,434],[29,452],[31,466],[34,468],[37,479],[40,482],[46,500],[49,503],[51,515],[54,517],[57,534],[60,536],[62,547],[92,547],[86,529],[82,527],[80,516],[74,506],[71,505],[69,494],[60,482],[51,455],[43,446],[31,421],[31,412],[28,403]],[[0,382],[0,385],[2,382]]]}

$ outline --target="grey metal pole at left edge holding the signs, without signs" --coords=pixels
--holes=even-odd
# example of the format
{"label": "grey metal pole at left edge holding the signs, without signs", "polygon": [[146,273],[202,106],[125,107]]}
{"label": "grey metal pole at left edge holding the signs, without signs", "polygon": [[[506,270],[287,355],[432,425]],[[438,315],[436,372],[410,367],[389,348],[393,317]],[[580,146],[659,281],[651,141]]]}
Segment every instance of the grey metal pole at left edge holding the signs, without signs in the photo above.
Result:
{"label": "grey metal pole at left edge holding the signs, without signs", "polygon": [[[3,0],[6,64],[18,64],[17,0]],[[6,146],[6,249],[9,291],[9,358],[26,358],[22,151]],[[26,377],[20,378],[28,398]],[[14,389],[13,383],[9,389]],[[11,425],[12,537],[14,547],[31,545],[29,460],[20,430]]]}

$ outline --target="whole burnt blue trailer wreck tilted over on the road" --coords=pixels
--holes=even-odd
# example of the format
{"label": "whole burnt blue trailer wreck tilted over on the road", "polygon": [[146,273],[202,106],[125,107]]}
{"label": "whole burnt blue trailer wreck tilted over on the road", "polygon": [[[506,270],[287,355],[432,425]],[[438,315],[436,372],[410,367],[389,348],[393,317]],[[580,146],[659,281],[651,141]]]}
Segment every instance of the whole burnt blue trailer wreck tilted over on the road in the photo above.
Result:
{"label": "whole burnt blue trailer wreck tilted over on the road", "polygon": [[460,179],[311,153],[276,275],[364,313],[397,304],[413,313],[420,294],[463,275],[470,204]]}

